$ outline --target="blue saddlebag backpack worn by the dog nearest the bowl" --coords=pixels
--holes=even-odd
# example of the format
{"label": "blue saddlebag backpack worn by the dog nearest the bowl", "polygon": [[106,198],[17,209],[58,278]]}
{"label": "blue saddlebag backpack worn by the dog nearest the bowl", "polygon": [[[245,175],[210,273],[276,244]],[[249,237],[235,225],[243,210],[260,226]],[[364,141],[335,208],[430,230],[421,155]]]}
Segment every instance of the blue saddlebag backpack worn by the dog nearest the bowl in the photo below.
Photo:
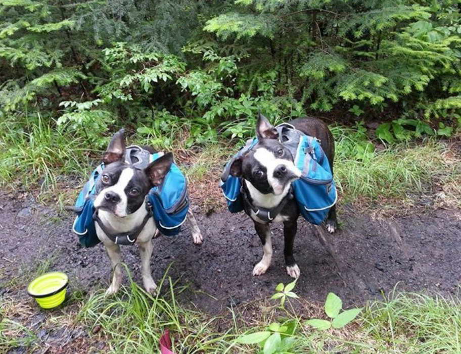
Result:
{"label": "blue saddlebag backpack worn by the dog nearest the bowl", "polygon": [[[163,156],[163,153],[150,154],[149,151],[133,145],[126,148],[125,156],[145,156],[149,163]],[[81,245],[93,247],[100,242],[95,228],[93,215],[96,197],[96,183],[104,170],[104,163],[99,165],[90,175],[75,201],[77,214],[72,231],[79,236]],[[189,210],[187,179],[175,163],[171,164],[163,182],[152,187],[146,195],[146,203],[152,210],[152,217],[159,231],[165,236],[174,236],[181,231]]]}

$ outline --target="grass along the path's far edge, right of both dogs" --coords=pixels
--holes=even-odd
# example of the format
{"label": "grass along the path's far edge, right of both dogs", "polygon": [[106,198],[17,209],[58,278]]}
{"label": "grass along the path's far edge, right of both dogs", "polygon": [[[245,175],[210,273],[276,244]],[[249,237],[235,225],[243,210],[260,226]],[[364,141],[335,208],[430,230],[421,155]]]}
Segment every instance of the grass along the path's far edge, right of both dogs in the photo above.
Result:
{"label": "grass along the path's far edge, right of both dogs", "polygon": [[332,131],[336,140],[335,181],[344,200],[404,199],[407,193],[431,194],[435,184],[443,186],[461,179],[461,159],[446,161],[447,147],[435,139],[420,144],[401,142],[376,151],[360,129],[335,126]]}

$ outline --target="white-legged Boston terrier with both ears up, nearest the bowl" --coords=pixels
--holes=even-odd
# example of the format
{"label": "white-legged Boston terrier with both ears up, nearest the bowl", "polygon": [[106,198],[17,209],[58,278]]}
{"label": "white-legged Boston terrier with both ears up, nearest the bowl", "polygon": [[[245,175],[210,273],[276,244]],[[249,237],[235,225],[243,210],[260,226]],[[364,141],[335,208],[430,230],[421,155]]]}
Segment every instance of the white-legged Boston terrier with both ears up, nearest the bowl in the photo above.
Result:
{"label": "white-legged Boston terrier with both ears up, nearest the bowl", "polygon": [[[170,170],[173,154],[167,153],[150,163],[144,170],[134,168],[124,160],[125,139],[123,129],[112,137],[103,156],[105,168],[96,184],[94,206],[97,210],[98,222],[95,222],[98,238],[104,243],[109,256],[113,279],[106,294],[118,291],[122,281],[122,262],[120,246],[114,243],[106,233],[132,233],[139,231],[135,243],[139,244],[141,254],[141,272],[144,288],[153,293],[157,285],[152,279],[150,259],[153,251],[152,238],[157,227],[148,215],[145,197],[153,186],[160,185]],[[155,151],[143,146],[151,154]],[[202,243],[202,235],[191,209],[188,212],[194,243]],[[143,226],[144,225],[144,226]]]}

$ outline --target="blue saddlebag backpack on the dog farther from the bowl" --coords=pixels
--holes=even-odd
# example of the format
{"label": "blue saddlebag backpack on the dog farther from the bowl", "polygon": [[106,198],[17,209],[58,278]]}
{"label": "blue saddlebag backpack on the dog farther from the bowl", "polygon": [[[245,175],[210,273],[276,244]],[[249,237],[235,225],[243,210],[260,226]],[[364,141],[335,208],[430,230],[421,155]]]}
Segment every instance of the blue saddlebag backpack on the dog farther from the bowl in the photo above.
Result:
{"label": "blue saddlebag backpack on the dog farther from the bowl", "polygon": [[[288,123],[280,124],[275,129],[279,133],[279,141],[290,149],[294,164],[301,171],[301,177],[292,183],[300,213],[308,222],[321,224],[338,197],[328,158],[316,138],[304,134]],[[231,213],[241,212],[244,206],[241,177],[230,175],[230,166],[257,143],[257,138],[248,140],[227,162],[222,172],[219,186]]]}

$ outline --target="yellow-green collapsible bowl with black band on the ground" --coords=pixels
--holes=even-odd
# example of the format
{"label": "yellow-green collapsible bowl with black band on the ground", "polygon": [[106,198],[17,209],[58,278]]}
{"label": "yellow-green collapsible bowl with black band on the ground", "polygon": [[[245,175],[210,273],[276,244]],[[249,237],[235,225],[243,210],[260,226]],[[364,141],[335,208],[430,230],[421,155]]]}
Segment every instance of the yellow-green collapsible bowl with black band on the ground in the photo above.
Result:
{"label": "yellow-green collapsible bowl with black band on the ground", "polygon": [[52,309],[64,301],[68,281],[67,275],[61,272],[43,274],[30,282],[27,292],[41,308]]}

